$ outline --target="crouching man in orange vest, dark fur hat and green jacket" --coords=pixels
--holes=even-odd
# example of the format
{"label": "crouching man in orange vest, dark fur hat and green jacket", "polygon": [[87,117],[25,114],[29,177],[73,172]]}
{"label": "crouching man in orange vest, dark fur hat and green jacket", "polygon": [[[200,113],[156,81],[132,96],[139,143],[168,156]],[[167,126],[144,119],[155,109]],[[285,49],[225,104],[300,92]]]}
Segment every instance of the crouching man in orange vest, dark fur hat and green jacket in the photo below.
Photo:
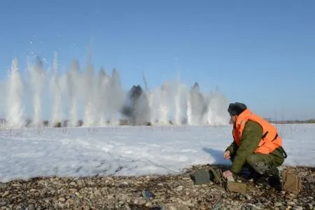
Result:
{"label": "crouching man in orange vest, dark fur hat and green jacket", "polygon": [[223,176],[237,174],[255,182],[266,177],[270,185],[281,190],[277,167],[283,164],[286,152],[276,127],[239,102],[231,103],[228,112],[234,141],[225,150],[224,158],[232,161],[232,167]]}

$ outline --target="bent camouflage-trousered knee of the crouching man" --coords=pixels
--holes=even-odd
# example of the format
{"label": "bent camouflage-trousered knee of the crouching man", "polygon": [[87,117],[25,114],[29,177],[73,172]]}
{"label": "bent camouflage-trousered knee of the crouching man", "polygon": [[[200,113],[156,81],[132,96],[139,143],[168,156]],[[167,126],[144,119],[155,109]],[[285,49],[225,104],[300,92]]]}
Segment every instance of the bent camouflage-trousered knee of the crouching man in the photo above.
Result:
{"label": "bent camouflage-trousered knee of the crouching man", "polygon": [[246,157],[246,162],[258,174],[265,174],[272,168],[272,159],[269,155],[251,154]]}

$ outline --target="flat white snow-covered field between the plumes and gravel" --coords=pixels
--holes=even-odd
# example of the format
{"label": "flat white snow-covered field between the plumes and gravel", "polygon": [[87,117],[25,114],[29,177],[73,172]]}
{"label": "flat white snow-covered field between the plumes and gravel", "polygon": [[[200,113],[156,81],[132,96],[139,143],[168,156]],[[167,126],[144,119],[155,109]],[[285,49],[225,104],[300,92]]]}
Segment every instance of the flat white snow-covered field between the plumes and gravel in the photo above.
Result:
{"label": "flat white snow-covered field between the plumes and gravel", "polygon": [[[315,125],[277,125],[285,165],[315,166]],[[34,176],[174,174],[196,164],[230,164],[229,126],[0,130],[0,181]]]}

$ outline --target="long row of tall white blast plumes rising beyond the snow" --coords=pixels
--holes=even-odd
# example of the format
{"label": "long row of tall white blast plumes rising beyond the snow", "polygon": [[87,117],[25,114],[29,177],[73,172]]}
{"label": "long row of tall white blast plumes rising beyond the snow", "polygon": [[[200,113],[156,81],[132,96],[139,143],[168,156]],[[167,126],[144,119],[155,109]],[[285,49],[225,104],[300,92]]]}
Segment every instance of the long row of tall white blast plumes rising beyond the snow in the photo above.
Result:
{"label": "long row of tall white blast plumes rising beyond the snow", "polygon": [[[13,59],[6,88],[7,109],[0,111],[6,113],[8,126],[25,126],[24,116],[27,115],[31,118],[31,125],[42,126],[43,120],[48,120],[51,127],[119,125],[124,118],[132,125],[182,125],[184,120],[188,125],[229,123],[228,100],[219,91],[202,94],[197,83],[189,90],[177,78],[175,83],[167,81],[161,87],[150,89],[144,78],[144,90],[137,86],[132,89],[137,92],[126,91],[116,69],[111,75],[103,68],[94,73],[90,59],[84,71],[80,71],[78,61],[73,60],[69,71],[60,75],[57,53],[53,59],[52,75],[44,68],[43,59],[36,57],[35,64],[28,66],[30,79],[23,83],[18,59]],[[46,81],[50,81],[50,88],[45,87]],[[25,96],[27,92],[30,95]],[[51,101],[42,103],[47,95]],[[137,97],[130,100],[130,95]],[[31,110],[24,107],[24,104],[29,104],[28,100]],[[130,107],[126,105],[128,101]],[[49,119],[43,119],[43,111],[48,110]]]}

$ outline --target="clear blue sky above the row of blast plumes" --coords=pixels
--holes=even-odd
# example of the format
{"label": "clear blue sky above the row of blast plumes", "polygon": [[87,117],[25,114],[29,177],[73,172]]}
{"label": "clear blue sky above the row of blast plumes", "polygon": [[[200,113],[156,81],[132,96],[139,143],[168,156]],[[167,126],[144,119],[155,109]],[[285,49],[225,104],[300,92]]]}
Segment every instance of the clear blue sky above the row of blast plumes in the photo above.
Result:
{"label": "clear blue sky above the row of blast plumes", "polygon": [[315,1],[0,3],[0,79],[13,57],[120,71],[124,87],[165,80],[220,90],[264,117],[315,118]]}

